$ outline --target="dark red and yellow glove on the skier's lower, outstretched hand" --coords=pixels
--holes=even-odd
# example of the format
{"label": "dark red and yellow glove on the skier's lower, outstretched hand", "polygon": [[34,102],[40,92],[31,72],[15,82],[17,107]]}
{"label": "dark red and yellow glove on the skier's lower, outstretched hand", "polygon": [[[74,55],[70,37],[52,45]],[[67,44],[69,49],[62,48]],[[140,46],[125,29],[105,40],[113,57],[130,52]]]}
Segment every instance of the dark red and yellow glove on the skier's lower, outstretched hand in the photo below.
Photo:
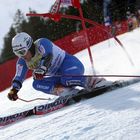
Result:
{"label": "dark red and yellow glove on the skier's lower, outstretched hand", "polygon": [[18,99],[18,93],[19,90],[15,89],[15,88],[12,88],[10,90],[10,92],[8,93],[7,97],[9,98],[9,100],[11,101],[16,101]]}

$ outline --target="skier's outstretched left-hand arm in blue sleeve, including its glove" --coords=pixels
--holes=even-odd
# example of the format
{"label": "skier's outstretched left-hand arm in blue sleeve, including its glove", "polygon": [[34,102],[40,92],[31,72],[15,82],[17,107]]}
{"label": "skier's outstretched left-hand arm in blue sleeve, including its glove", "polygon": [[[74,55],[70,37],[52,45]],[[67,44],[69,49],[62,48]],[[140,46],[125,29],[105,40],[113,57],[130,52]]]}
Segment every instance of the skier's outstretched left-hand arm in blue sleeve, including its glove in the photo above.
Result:
{"label": "skier's outstretched left-hand arm in blue sleeve, including its glove", "polygon": [[8,98],[12,101],[15,101],[18,99],[18,91],[22,87],[22,83],[25,79],[26,73],[27,73],[27,65],[24,59],[19,58],[16,63],[16,74],[12,81],[12,88],[10,92],[8,93]]}

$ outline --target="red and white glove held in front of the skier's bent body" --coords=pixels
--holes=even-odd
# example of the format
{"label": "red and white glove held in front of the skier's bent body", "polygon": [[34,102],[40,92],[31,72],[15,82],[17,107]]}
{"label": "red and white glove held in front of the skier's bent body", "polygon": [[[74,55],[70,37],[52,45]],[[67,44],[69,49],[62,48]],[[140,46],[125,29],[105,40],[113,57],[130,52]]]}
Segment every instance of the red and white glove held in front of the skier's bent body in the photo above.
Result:
{"label": "red and white glove held in front of the skier's bent body", "polygon": [[47,68],[45,66],[41,66],[38,69],[35,69],[33,72],[34,79],[42,80],[44,75],[46,74]]}

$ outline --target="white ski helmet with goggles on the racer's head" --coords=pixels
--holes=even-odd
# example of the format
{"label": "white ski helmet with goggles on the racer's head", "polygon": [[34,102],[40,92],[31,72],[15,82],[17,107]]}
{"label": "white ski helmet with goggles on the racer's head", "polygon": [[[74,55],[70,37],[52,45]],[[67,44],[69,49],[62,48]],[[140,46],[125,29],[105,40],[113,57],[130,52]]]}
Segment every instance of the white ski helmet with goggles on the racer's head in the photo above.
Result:
{"label": "white ski helmet with goggles on the racer's head", "polygon": [[12,49],[18,57],[25,56],[32,46],[33,40],[30,35],[25,32],[18,33],[12,39]]}

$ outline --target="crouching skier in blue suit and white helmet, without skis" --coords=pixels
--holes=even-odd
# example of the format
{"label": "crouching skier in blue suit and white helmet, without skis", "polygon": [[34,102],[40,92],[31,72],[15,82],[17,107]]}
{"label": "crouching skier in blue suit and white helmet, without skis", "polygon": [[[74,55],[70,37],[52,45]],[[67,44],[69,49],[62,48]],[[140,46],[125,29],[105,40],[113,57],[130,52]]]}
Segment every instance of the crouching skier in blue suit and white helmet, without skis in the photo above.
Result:
{"label": "crouching skier in blue suit and white helmet, without skis", "polygon": [[28,69],[33,71],[33,88],[48,94],[54,94],[59,85],[69,88],[81,86],[91,90],[105,84],[106,80],[103,78],[72,76],[84,74],[83,64],[47,38],[33,42],[30,35],[21,32],[12,39],[12,49],[19,59],[12,89],[8,93],[10,100],[18,99],[17,93],[22,87]]}

